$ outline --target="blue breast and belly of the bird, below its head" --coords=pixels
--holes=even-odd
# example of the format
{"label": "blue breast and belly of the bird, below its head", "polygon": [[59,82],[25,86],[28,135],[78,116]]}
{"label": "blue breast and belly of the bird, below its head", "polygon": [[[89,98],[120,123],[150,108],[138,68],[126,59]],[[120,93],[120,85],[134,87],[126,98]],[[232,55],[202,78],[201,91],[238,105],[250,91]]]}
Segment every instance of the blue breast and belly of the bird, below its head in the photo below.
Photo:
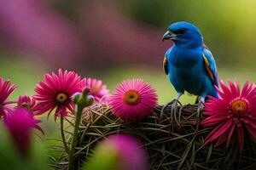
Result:
{"label": "blue breast and belly of the bird, below its head", "polygon": [[200,94],[207,87],[218,86],[215,61],[206,48],[180,50],[168,53],[168,75],[174,86],[191,94]]}

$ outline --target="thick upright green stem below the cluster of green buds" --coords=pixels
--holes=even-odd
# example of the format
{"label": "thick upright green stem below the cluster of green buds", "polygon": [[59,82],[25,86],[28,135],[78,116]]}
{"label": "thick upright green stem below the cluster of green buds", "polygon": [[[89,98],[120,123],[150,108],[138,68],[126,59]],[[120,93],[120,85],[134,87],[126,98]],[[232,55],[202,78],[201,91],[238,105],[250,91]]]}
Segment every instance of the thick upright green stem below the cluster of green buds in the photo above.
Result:
{"label": "thick upright green stem below the cluster of green buds", "polygon": [[75,121],[75,127],[73,129],[73,139],[72,139],[72,144],[71,144],[71,150],[69,152],[69,162],[68,162],[68,170],[73,170],[73,154],[75,152],[75,148],[77,145],[78,141],[78,134],[79,134],[79,124],[81,121],[81,116],[82,116],[82,111],[84,107],[83,106],[78,106],[78,111],[76,113],[76,121]]}

